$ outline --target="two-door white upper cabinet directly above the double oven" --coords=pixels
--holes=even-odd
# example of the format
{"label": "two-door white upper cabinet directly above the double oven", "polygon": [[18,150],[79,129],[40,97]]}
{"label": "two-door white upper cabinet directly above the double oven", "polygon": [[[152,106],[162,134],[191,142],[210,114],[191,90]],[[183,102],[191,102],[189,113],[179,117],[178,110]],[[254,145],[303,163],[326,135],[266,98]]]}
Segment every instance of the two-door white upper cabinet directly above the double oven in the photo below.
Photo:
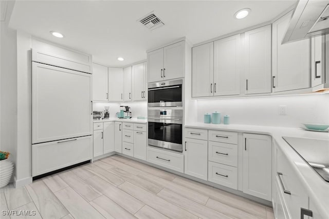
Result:
{"label": "two-door white upper cabinet directly above the double oven", "polygon": [[148,53],[148,83],[184,77],[185,41]]}

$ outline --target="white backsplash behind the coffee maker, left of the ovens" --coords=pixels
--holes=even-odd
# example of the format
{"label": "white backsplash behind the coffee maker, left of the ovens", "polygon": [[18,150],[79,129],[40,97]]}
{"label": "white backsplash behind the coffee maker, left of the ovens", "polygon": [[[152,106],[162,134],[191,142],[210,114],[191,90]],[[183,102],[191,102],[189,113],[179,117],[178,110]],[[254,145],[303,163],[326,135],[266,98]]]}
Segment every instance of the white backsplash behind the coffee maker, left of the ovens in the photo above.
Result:
{"label": "white backsplash behind the coffee maker, left of the ovens", "polygon": [[104,107],[109,107],[109,117],[115,117],[116,112],[120,111],[120,106],[130,106],[132,108],[133,118],[137,116],[147,117],[148,103],[147,102],[123,102],[123,103],[103,103],[103,102],[94,102],[93,110],[94,111],[104,111]]}

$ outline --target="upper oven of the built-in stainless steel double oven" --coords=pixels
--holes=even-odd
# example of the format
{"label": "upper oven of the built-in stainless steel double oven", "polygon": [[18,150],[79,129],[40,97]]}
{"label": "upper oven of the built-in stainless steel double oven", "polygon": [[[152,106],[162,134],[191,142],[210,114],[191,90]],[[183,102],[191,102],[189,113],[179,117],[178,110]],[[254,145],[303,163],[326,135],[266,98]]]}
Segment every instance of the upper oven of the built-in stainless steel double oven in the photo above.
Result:
{"label": "upper oven of the built-in stainless steel double oven", "polygon": [[182,80],[158,82],[148,86],[148,106],[182,106]]}

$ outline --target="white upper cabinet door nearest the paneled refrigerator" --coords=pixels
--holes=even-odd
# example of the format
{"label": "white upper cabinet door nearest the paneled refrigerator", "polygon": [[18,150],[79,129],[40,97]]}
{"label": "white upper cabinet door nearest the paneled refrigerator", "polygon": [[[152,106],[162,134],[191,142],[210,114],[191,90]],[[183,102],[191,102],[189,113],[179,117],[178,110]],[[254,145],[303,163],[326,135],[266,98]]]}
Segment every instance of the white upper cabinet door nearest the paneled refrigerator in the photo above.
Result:
{"label": "white upper cabinet door nearest the paneled refrigerator", "polygon": [[107,67],[93,63],[93,100],[107,101]]}

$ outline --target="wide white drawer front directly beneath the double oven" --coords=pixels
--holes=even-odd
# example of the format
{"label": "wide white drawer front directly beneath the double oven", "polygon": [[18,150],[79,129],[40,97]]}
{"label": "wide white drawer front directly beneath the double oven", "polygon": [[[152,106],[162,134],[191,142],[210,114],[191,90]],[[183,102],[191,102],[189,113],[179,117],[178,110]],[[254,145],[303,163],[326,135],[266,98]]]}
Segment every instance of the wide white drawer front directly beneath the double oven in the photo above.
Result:
{"label": "wide white drawer front directly beneath the double oven", "polygon": [[147,161],[177,172],[184,172],[184,155],[148,147]]}

